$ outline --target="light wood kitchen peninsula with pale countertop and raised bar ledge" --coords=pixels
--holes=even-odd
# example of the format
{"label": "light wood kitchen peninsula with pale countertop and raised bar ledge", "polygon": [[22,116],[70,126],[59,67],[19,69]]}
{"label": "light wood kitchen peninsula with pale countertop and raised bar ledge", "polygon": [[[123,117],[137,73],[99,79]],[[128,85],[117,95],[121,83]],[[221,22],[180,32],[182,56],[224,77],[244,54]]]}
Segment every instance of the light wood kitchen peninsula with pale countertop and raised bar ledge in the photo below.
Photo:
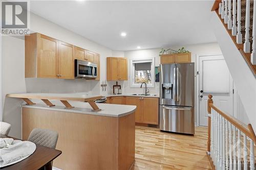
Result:
{"label": "light wood kitchen peninsula with pale countertop and raised bar ledge", "polygon": [[[90,102],[101,96],[82,94],[24,93],[7,97],[25,101],[29,98],[31,102],[22,105],[23,140],[34,128],[58,132],[56,149],[62,154],[54,160],[54,167],[130,169],[133,165],[136,106],[94,103],[99,108],[95,111]],[[34,103],[30,99],[44,102]],[[63,101],[72,107],[63,106]]]}

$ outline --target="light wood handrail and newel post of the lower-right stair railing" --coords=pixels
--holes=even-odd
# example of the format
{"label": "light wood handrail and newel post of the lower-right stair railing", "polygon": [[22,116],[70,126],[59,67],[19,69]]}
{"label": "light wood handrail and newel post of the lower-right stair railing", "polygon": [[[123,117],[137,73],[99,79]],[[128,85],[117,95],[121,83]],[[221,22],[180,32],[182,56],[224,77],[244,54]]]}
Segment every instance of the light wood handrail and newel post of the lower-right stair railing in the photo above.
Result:
{"label": "light wood handrail and newel post of the lower-right stair railing", "polygon": [[[220,109],[218,109],[216,106],[214,106],[213,102],[212,102],[212,95],[209,94],[208,95],[208,113],[209,112],[209,108],[214,109],[215,111],[217,111],[221,116],[223,116],[226,120],[228,120],[228,122],[230,122],[232,125],[234,125],[236,128],[238,128],[241,132],[243,132],[244,134],[246,134],[246,136],[248,136],[249,138],[251,138],[254,143],[256,143],[256,136],[255,133],[251,127],[251,124],[245,125],[244,123],[242,123],[239,119],[224,113],[223,111],[221,111]],[[210,121],[210,116],[208,117],[208,124]],[[208,131],[209,128],[208,128]],[[209,134],[209,132],[208,132]],[[208,140],[210,139],[210,136],[208,136]],[[208,142],[207,142],[208,143]]]}

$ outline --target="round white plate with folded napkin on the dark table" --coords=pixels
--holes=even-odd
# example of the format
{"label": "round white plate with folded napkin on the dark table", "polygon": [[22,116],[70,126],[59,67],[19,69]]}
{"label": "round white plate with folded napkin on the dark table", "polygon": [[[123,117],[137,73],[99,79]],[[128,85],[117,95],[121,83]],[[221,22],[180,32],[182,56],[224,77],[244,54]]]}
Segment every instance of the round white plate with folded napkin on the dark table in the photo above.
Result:
{"label": "round white plate with folded napkin on the dark table", "polygon": [[0,149],[0,167],[22,161],[33,154],[35,149],[36,145],[31,141],[12,142],[8,147]]}

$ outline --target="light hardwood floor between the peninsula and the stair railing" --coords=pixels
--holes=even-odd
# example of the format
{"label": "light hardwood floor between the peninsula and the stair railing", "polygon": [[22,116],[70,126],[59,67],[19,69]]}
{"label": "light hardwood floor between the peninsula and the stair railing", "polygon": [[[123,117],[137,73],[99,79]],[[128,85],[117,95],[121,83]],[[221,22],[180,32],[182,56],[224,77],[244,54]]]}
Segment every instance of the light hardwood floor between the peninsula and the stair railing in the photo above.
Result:
{"label": "light hardwood floor between the peninsula and the stair railing", "polygon": [[132,169],[211,169],[206,144],[206,127],[196,127],[196,134],[191,136],[136,126]]}

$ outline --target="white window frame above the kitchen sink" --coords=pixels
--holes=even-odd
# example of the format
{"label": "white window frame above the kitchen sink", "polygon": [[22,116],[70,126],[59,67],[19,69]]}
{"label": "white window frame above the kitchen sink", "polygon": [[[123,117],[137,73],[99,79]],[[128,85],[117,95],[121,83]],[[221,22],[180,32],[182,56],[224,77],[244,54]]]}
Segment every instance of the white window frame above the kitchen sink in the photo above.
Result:
{"label": "white window frame above the kitchen sink", "polygon": [[140,87],[141,84],[135,83],[135,63],[151,62],[151,84],[146,84],[147,87],[155,87],[155,57],[146,59],[130,59],[130,86]]}

